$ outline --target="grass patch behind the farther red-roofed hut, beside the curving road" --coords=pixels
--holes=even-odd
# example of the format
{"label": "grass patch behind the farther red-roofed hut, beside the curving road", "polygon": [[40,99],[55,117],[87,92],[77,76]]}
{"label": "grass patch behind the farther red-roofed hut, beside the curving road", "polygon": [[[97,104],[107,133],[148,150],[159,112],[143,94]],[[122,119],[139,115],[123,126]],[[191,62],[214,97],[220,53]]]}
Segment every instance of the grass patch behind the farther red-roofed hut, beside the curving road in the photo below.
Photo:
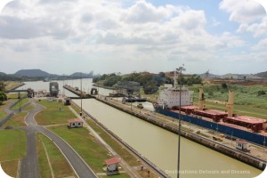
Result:
{"label": "grass patch behind the farther red-roofed hut, beside the curving road", "polygon": [[42,100],[37,103],[43,105],[46,109],[36,115],[36,122],[38,125],[54,125],[54,124],[67,124],[70,118],[75,115],[69,110],[68,106],[60,105],[62,110],[59,110],[57,101]]}

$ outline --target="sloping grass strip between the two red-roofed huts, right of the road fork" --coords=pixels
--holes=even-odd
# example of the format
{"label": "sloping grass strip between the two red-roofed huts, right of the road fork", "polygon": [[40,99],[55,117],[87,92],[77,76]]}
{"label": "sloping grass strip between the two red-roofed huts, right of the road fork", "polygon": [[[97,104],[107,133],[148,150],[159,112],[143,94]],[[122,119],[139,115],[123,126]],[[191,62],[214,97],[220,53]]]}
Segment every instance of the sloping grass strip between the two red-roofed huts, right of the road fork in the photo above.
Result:
{"label": "sloping grass strip between the two red-roofed huts, right of the road fork", "polygon": [[103,173],[104,161],[109,157],[109,152],[101,147],[83,128],[69,129],[67,126],[50,127],[50,129],[68,142],[74,150],[92,167],[94,173]]}

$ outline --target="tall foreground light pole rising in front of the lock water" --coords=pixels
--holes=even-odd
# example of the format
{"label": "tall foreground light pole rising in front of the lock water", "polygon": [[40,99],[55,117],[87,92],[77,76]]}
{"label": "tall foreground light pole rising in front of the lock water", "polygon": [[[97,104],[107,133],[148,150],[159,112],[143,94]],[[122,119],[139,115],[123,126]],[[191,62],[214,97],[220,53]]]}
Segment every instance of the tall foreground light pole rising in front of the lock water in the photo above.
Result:
{"label": "tall foreground light pole rising in front of the lock water", "polygon": [[[176,69],[177,72],[179,72],[179,80],[180,80],[180,98],[179,98],[179,126],[178,126],[178,164],[177,164],[177,178],[180,177],[180,157],[181,157],[181,97],[182,97],[182,71],[185,71],[185,69],[182,67],[179,67]],[[174,81],[175,83],[175,81]]]}

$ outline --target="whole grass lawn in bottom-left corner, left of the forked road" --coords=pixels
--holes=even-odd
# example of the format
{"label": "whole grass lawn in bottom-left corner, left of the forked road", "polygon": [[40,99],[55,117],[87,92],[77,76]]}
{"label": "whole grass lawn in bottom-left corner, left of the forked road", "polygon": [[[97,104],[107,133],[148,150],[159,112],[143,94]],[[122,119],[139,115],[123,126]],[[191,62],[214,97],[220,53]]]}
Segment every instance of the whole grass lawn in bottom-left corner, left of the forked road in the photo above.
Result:
{"label": "whole grass lawn in bottom-left corner, left of the forked road", "polygon": [[16,176],[18,161],[26,155],[26,133],[21,130],[0,130],[0,162],[6,173]]}

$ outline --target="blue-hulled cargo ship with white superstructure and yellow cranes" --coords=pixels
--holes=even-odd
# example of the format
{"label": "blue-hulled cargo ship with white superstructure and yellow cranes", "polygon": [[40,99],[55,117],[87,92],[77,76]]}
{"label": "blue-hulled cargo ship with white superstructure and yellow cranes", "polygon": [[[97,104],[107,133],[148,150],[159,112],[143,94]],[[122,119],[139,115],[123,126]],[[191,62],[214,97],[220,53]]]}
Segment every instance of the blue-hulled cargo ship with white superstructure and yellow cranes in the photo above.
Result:
{"label": "blue-hulled cargo ship with white superstructure and yellow cranes", "polygon": [[206,109],[202,87],[199,88],[199,104],[194,106],[191,97],[194,92],[184,86],[178,87],[176,81],[174,71],[174,85],[164,85],[159,92],[158,102],[153,103],[156,112],[179,119],[179,109],[181,109],[182,121],[226,134],[228,138],[237,137],[247,142],[266,145],[267,120],[233,114],[234,92],[232,90],[229,91],[229,101],[225,111]]}

